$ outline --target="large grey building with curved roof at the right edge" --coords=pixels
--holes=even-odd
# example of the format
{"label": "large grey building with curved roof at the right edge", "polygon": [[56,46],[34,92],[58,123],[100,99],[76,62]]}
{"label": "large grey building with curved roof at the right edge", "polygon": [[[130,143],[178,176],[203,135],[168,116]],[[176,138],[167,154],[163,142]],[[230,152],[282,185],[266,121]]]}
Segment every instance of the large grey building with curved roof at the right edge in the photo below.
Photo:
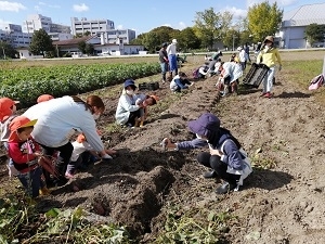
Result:
{"label": "large grey building with curved roof at the right edge", "polygon": [[[301,5],[284,13],[278,35],[280,48],[301,49],[310,48],[306,39],[306,27],[310,24],[325,24],[325,3]],[[324,37],[325,41],[325,37]]]}

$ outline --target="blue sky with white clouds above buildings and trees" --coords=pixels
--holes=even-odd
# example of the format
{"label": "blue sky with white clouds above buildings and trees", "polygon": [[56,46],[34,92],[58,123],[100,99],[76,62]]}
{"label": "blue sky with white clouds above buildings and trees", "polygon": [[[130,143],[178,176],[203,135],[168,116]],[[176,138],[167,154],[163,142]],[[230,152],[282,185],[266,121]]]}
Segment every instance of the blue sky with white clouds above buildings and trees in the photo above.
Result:
{"label": "blue sky with white clouds above buildings and trees", "polygon": [[[134,29],[136,35],[158,26],[183,29],[193,26],[196,12],[213,8],[245,16],[248,7],[263,0],[0,0],[0,28],[3,23],[22,25],[29,14],[42,14],[53,23],[70,26],[70,17],[114,21],[116,28]],[[269,0],[273,3],[274,0]],[[290,11],[300,5],[323,3],[311,0],[278,0],[281,9]]]}

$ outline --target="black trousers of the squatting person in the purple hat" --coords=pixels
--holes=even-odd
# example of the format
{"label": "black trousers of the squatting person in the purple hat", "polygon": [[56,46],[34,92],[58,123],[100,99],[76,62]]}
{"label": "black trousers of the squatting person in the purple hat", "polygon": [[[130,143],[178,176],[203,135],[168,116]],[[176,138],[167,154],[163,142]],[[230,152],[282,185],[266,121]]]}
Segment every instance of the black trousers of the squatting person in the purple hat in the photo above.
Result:
{"label": "black trousers of the squatting person in the purple hat", "polygon": [[240,176],[226,172],[227,165],[221,160],[220,156],[203,152],[197,155],[197,162],[213,169],[222,180],[227,181],[231,184],[236,184],[240,178]]}

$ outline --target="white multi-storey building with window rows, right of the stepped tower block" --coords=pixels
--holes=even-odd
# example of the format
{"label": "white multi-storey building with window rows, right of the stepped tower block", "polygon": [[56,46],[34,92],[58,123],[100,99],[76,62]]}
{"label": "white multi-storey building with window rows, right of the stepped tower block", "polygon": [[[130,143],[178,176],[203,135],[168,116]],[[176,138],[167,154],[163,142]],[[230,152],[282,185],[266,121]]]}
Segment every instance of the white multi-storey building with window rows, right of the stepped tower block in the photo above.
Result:
{"label": "white multi-storey building with window rows, right of the stepped tower block", "polygon": [[78,17],[72,17],[72,29],[73,35],[83,35],[84,33],[90,33],[91,36],[96,35],[99,31],[107,31],[114,29],[114,22],[109,20],[92,20],[88,21],[82,17],[80,21]]}

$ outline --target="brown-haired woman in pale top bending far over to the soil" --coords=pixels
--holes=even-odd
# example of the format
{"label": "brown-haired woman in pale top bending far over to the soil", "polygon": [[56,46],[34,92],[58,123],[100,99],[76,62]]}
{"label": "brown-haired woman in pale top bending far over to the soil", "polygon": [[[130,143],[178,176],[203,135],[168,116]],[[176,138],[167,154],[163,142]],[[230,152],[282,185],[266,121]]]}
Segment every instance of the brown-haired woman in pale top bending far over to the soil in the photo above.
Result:
{"label": "brown-haired woman in pale top bending far over to the soil", "polygon": [[44,150],[46,155],[60,152],[57,169],[65,175],[74,146],[72,137],[82,132],[89,144],[101,154],[102,158],[110,159],[104,144],[96,132],[95,120],[103,114],[105,105],[98,95],[90,95],[86,101],[78,97],[66,95],[38,103],[29,107],[23,115],[38,119],[32,130],[32,138]]}

